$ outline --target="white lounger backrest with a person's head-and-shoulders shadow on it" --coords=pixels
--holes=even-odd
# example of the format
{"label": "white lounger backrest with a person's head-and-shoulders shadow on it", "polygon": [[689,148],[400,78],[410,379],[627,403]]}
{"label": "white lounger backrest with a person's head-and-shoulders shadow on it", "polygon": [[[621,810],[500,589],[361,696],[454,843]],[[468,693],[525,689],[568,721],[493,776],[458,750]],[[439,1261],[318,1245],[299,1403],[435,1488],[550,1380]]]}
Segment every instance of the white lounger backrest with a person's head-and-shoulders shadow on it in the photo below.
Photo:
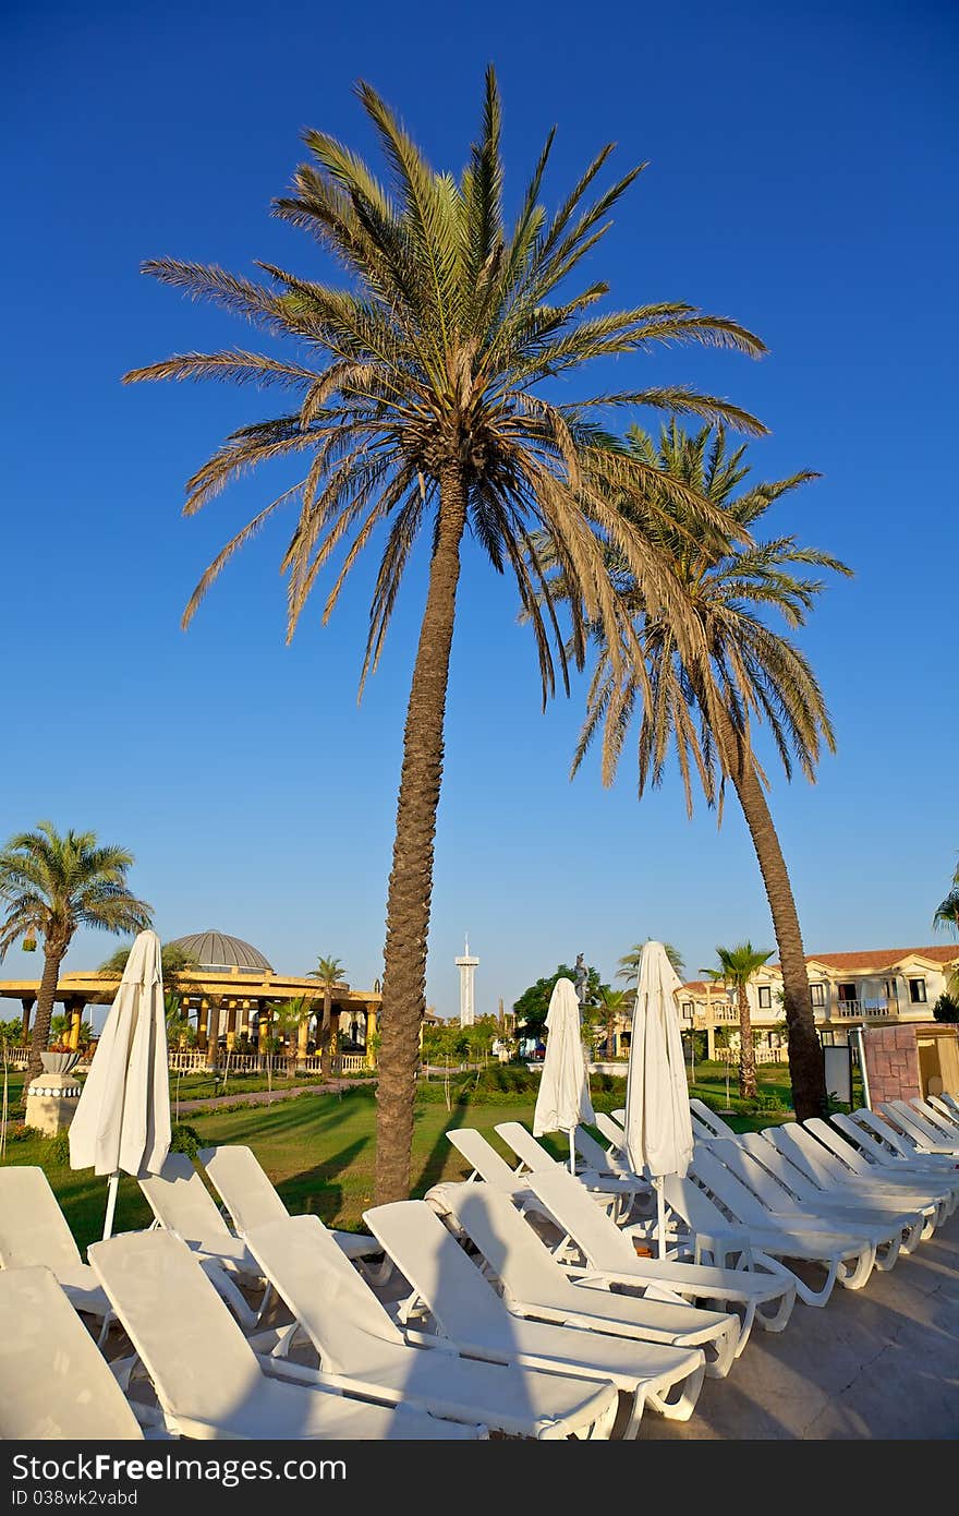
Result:
{"label": "white lounger backrest with a person's head-and-shoulders shadow on it", "polygon": [[509,1311],[426,1201],[376,1205],[364,1220],[444,1336],[512,1352]]}

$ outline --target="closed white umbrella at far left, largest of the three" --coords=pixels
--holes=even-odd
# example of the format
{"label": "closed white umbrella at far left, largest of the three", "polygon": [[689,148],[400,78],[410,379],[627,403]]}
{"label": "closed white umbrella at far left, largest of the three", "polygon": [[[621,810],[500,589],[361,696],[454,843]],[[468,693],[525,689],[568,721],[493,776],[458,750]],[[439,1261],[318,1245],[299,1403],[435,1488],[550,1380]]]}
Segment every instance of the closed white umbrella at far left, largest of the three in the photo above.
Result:
{"label": "closed white umbrella at far left, largest of the three", "polygon": [[120,1172],[159,1173],[170,1151],[164,970],[156,932],[135,940],[70,1123],[70,1167],[111,1176],[103,1237]]}

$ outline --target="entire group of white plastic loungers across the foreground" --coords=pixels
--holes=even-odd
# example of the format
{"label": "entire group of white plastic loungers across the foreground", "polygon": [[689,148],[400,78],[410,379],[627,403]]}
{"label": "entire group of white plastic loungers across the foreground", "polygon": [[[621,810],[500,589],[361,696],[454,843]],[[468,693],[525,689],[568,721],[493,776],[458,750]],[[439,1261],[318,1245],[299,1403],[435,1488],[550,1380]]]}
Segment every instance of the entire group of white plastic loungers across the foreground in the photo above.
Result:
{"label": "entire group of white plastic loungers across the foreground", "polygon": [[692,1102],[667,1257],[609,1117],[606,1148],[577,1134],[576,1176],[520,1123],[497,1128],[515,1169],[453,1131],[470,1179],[371,1208],[364,1236],[291,1217],[247,1148],[206,1149],[201,1170],[171,1154],[139,1181],[155,1226],[88,1263],[42,1170],[0,1167],[0,1434],[632,1437],[647,1410],[685,1419],[754,1325],[862,1287],[951,1214],[959,1107],[909,1111],[921,1128],[892,1113],[895,1140],[864,1113],[738,1137]]}

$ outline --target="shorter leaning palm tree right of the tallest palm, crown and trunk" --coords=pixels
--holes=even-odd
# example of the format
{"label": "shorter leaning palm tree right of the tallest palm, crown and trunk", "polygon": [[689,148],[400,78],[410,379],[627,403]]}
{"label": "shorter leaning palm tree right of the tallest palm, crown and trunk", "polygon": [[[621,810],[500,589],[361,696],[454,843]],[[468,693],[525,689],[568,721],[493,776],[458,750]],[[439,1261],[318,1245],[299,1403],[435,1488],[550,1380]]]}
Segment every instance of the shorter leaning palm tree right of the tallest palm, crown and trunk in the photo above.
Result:
{"label": "shorter leaning palm tree right of the tallest palm, crown and trunk", "polygon": [[[741,531],[753,532],[773,502],[817,478],[811,471],[739,491],[748,464],[745,447],[727,452],[726,434],[703,428],[688,435],[676,423],[664,428],[659,441],[633,429],[630,453],[648,467],[653,462],[691,490],[701,491]],[[651,476],[650,476],[651,478]],[[654,497],[650,500],[650,490]],[[588,709],[573,760],[579,769],[594,735],[603,731],[603,782],[611,784],[636,705],[641,708],[638,760],[639,794],[662,779],[671,744],[676,747],[692,810],[692,781],[709,803],[723,807],[729,779],[742,808],[762,873],[783,976],[783,1007],[788,1026],[789,1076],[798,1120],[826,1108],[823,1049],[806,975],[803,937],[789,873],[765,797],[767,776],[753,750],[753,722],[767,720],[786,778],[794,760],[811,782],[821,747],[835,752],[835,735],[815,673],[788,637],[773,631],[765,615],[776,611],[789,628],[804,625],[806,612],[823,590],[823,581],[794,572],[794,565],[829,568],[850,575],[836,558],[798,546],[795,537],[774,537],[736,546],[721,531],[701,531],[683,502],[662,493],[656,484],[642,497],[623,503],[648,522],[648,532],[668,558],[674,584],[697,628],[689,635],[688,619],[676,625],[671,609],[653,605],[644,587],[608,550],[623,622],[641,647],[626,678],[620,667],[626,649],[621,631],[620,656],[612,656],[603,628],[594,628],[597,667]],[[653,509],[654,518],[647,512]],[[542,552],[541,552],[542,556]],[[718,770],[718,776],[717,776]]]}

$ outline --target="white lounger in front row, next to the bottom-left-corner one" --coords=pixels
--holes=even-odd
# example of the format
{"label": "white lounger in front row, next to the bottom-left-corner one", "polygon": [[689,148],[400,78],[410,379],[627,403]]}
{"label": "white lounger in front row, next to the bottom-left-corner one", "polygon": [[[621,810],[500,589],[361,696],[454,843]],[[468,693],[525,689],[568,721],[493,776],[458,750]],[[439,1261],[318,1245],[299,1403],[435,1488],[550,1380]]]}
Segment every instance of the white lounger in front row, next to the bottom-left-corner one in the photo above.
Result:
{"label": "white lounger in front row, next to the bottom-left-corner one", "polygon": [[[271,1378],[200,1260],[171,1231],[92,1243],[89,1261],[148,1373],[173,1436],[197,1439],[474,1439],[486,1428],[365,1404]],[[258,1266],[259,1267],[259,1266]]]}

